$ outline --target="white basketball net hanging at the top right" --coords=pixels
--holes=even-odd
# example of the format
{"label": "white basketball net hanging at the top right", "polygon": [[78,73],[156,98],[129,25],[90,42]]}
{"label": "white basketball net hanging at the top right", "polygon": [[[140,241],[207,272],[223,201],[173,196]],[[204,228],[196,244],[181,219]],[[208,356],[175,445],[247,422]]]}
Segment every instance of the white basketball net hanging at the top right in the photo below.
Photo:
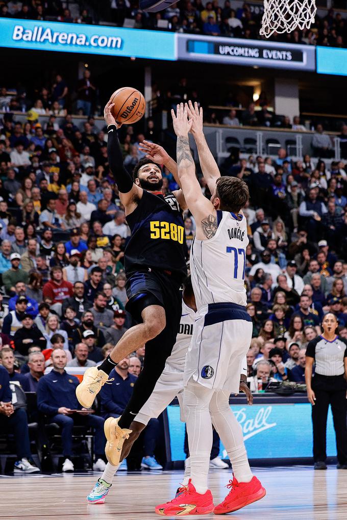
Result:
{"label": "white basketball net hanging at the top right", "polygon": [[264,0],[260,34],[268,38],[274,32],[310,29],[316,10],[315,0]]}

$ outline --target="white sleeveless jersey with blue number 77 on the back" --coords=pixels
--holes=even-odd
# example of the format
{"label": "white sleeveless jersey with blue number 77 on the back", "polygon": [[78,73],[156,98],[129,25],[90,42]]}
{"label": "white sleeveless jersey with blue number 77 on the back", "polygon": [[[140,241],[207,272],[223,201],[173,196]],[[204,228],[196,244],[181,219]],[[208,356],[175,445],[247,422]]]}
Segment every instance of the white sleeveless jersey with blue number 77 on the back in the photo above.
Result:
{"label": "white sleeveless jersey with blue number 77 on the back", "polygon": [[213,238],[192,242],[190,274],[198,310],[209,303],[245,306],[247,222],[244,215],[217,211]]}

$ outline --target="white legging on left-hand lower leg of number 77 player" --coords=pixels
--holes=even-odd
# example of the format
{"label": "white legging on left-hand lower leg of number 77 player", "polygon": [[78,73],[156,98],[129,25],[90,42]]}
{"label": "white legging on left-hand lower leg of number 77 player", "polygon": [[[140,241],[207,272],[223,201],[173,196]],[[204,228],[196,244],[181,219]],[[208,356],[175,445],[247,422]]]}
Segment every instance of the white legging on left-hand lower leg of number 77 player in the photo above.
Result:
{"label": "white legging on left-hand lower leg of number 77 player", "polygon": [[183,406],[187,421],[191,483],[198,493],[208,490],[212,448],[212,422],[209,404],[214,391],[190,380],[184,389]]}

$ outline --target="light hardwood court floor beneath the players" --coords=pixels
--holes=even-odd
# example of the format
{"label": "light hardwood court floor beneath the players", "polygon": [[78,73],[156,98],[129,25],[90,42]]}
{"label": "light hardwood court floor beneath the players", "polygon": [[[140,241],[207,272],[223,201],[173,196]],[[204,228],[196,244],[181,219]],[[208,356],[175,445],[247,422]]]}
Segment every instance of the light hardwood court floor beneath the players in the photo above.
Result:
{"label": "light hardwood court floor beneath the players", "polygon": [[[226,518],[234,520],[342,520],[347,518],[347,470],[314,471],[309,467],[255,469],[267,495]],[[230,473],[210,473],[217,504],[226,495]],[[11,520],[149,520],[161,518],[153,507],[174,496],[182,472],[119,473],[107,502],[88,505],[86,495],[98,475],[0,478],[0,519]],[[216,515],[199,519],[217,520]]]}

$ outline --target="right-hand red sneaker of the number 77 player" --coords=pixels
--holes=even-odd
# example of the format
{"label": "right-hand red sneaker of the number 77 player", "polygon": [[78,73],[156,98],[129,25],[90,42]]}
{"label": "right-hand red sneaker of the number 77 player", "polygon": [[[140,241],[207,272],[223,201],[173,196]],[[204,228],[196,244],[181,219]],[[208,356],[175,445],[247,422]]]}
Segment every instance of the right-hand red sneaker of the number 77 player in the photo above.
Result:
{"label": "right-hand red sneaker of the number 77 player", "polygon": [[229,480],[229,484],[226,487],[231,489],[223,502],[215,506],[213,511],[215,515],[224,515],[225,513],[237,511],[266,495],[265,489],[256,477],[253,477],[250,482],[237,482],[234,477],[233,480]]}

